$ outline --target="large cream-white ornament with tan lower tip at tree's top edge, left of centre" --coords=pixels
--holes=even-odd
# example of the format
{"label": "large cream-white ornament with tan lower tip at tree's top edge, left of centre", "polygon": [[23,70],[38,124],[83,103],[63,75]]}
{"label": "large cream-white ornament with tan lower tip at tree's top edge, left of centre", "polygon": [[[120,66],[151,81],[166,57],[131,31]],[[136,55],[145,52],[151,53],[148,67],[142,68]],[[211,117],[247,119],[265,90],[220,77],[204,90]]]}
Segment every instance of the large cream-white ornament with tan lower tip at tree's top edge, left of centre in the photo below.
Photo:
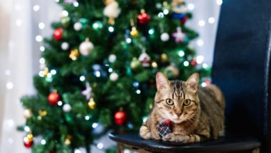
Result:
{"label": "large cream-white ornament with tan lower tip at tree's top edge, left of centre", "polygon": [[106,7],[104,8],[104,15],[108,17],[108,24],[114,25],[115,18],[120,15],[119,3],[115,0],[106,0],[104,2]]}

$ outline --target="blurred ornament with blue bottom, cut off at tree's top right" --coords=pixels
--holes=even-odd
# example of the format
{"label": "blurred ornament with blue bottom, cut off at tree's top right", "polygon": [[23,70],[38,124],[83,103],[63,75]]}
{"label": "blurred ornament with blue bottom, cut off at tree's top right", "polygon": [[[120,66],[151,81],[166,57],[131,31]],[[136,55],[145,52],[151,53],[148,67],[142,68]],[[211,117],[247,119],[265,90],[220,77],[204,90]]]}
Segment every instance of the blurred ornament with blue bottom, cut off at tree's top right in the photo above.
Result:
{"label": "blurred ornament with blue bottom, cut off at tree's top right", "polygon": [[185,6],[183,0],[172,0],[172,17],[174,19],[183,19],[185,17]]}

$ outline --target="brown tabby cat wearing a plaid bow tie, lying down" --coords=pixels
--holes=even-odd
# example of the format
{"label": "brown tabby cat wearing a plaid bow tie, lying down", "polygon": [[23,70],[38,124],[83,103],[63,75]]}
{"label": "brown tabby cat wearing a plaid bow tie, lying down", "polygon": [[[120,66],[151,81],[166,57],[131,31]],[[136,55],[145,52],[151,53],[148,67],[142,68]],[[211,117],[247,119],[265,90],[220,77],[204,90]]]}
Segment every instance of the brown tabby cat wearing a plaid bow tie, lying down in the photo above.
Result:
{"label": "brown tabby cat wearing a plaid bow tie, lying down", "polygon": [[198,86],[199,74],[168,81],[156,74],[154,108],[140,127],[143,139],[196,143],[224,134],[224,96],[215,85]]}

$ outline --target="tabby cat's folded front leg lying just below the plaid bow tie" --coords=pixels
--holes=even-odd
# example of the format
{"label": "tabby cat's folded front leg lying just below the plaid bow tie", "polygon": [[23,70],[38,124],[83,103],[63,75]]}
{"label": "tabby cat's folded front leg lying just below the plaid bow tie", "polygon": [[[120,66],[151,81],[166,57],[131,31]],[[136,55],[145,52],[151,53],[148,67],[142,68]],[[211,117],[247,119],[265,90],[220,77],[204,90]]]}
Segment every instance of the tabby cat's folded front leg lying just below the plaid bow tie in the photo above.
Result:
{"label": "tabby cat's folded front leg lying just below the plaid bow tie", "polygon": [[197,143],[201,141],[201,137],[197,134],[181,135],[170,133],[163,136],[165,141],[174,141],[179,143]]}

